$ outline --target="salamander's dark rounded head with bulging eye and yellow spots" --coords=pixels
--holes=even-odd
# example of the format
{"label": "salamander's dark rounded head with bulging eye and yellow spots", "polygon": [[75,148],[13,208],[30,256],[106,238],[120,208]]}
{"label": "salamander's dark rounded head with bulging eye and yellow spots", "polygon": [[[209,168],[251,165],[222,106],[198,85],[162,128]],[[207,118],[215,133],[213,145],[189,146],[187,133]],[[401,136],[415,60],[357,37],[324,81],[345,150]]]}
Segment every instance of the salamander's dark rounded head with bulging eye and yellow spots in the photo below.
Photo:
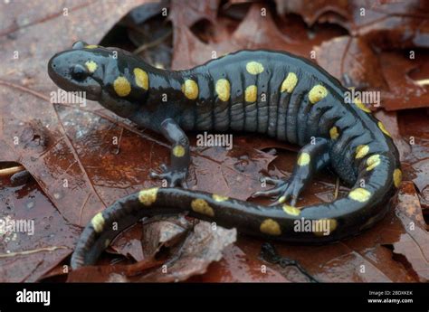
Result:
{"label": "salamander's dark rounded head with bulging eye and yellow spots", "polygon": [[147,97],[148,67],[120,49],[77,42],[52,57],[48,73],[63,90],[84,91],[87,99],[129,117]]}

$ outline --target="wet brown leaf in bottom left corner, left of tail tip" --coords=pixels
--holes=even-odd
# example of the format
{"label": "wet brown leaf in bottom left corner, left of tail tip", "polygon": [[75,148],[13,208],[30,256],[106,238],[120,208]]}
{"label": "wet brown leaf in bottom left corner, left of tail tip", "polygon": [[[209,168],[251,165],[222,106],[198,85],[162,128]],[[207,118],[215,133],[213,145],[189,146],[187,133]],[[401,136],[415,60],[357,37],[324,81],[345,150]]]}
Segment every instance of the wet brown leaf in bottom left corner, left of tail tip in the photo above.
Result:
{"label": "wet brown leaf in bottom left corner, left of tail tip", "polygon": [[0,185],[0,281],[37,281],[71,254],[80,231],[33,179],[13,186],[3,177]]}

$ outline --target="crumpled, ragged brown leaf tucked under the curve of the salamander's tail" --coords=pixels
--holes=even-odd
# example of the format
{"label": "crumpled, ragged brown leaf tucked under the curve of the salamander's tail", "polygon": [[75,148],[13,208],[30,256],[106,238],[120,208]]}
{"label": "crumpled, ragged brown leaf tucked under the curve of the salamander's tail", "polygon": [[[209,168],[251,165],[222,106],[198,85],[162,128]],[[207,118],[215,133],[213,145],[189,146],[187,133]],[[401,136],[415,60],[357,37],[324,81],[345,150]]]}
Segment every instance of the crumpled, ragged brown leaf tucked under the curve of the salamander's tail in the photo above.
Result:
{"label": "crumpled, ragged brown leaf tucked under the curve of the salamander's tail", "polygon": [[[145,228],[143,240],[145,260],[131,265],[91,266],[77,269],[71,272],[68,281],[186,280],[194,275],[205,273],[210,263],[222,259],[224,248],[235,241],[235,230],[213,228],[209,222],[197,222],[193,231],[189,232],[187,231],[189,224],[183,217],[163,219],[162,222],[151,221],[151,224]],[[161,248],[165,251],[161,251]],[[159,255],[159,253],[163,254]],[[162,260],[158,260],[159,258]]]}

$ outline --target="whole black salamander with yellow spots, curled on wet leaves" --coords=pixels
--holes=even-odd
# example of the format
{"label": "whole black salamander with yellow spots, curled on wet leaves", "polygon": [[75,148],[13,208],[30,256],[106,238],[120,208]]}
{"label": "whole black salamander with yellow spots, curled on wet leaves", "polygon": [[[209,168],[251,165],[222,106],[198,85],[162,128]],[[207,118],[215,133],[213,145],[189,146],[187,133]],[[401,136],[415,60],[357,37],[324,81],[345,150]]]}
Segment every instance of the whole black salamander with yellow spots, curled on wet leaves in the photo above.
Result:
{"label": "whole black salamander with yellow spots, curled on wet leaves", "polygon": [[[151,174],[168,187],[141,190],[97,213],[71,256],[73,269],[95,263],[120,231],[157,214],[186,212],[279,241],[338,241],[383,218],[401,183],[398,152],[383,124],[358,99],[348,103],[348,90],[327,71],[287,52],[240,51],[166,71],[129,52],[78,42],[55,54],[48,71],[63,90],[86,92],[172,145],[170,165]],[[261,133],[301,149],[289,179],[266,177],[274,187],[254,194],[275,196],[263,206],[186,188],[188,130]],[[297,208],[301,191],[327,166],[351,190],[332,203]],[[297,231],[300,221],[311,226]],[[329,231],[321,232],[322,224]]]}

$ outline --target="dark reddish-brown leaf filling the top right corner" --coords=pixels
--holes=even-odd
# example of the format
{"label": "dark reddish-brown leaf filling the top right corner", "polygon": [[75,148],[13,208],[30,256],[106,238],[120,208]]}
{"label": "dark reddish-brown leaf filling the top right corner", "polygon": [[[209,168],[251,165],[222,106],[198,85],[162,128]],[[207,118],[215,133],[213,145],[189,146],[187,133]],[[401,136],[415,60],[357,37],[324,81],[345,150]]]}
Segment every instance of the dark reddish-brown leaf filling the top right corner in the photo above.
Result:
{"label": "dark reddish-brown leaf filling the top right corner", "polygon": [[338,24],[353,36],[378,46],[427,47],[428,5],[419,0],[393,1],[298,1],[276,0],[279,14],[300,14],[308,25]]}

